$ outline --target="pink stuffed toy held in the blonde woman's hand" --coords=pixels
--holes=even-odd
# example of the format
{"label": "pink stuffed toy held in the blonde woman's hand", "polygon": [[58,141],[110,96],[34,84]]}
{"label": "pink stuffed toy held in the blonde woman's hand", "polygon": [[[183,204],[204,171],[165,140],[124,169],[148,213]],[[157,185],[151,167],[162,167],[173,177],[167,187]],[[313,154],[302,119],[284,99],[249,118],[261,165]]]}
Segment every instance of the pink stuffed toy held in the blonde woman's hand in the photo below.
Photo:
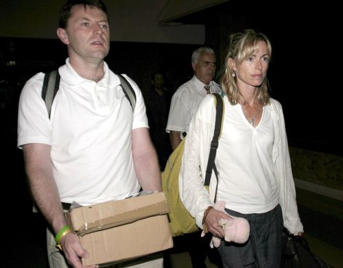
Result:
{"label": "pink stuffed toy held in the blonde woman's hand", "polygon": [[[225,211],[225,202],[224,201],[218,201],[217,203],[215,203],[213,208],[215,210],[219,210],[221,212],[224,212],[225,214],[228,215],[228,213]],[[218,221],[220,226],[222,226],[222,228],[224,229],[225,241],[235,242],[235,243],[240,243],[240,244],[246,243],[246,241],[248,241],[249,234],[250,234],[250,226],[249,226],[248,221],[244,218],[241,218],[241,217],[233,217],[231,215],[230,215],[230,217],[232,217],[233,219],[221,218]],[[202,234],[202,236],[203,235],[204,234]],[[215,247],[219,247],[221,240],[222,239],[213,236],[211,244],[210,244],[211,247],[213,247],[213,245]]]}

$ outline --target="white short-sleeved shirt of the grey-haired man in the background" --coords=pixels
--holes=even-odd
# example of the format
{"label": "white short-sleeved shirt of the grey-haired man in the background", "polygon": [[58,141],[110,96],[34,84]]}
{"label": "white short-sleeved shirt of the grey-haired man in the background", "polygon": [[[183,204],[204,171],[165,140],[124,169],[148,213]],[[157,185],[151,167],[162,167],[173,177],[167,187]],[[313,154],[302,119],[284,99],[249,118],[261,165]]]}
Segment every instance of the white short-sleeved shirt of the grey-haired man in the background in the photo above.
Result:
{"label": "white short-sleeved shirt of the grey-haired man in the background", "polygon": [[[204,86],[205,84],[198,80],[196,75],[193,75],[191,80],[176,90],[171,98],[166,132],[169,133],[171,130],[181,133],[188,132],[189,123],[207,94]],[[210,91],[211,93],[222,93],[222,88],[211,81]]]}

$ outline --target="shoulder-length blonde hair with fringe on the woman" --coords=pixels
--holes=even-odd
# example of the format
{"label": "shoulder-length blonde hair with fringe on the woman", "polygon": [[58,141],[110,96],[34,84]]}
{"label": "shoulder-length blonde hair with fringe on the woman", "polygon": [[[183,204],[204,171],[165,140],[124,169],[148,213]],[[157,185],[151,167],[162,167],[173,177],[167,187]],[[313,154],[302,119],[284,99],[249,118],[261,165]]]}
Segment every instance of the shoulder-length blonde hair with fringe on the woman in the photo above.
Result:
{"label": "shoulder-length blonde hair with fringe on the woman", "polygon": [[[272,56],[272,45],[265,34],[255,32],[253,29],[246,29],[244,32],[238,32],[230,35],[230,44],[228,45],[228,54],[226,55],[224,72],[220,84],[228,96],[231,104],[238,103],[241,93],[237,88],[236,77],[232,66],[228,64],[228,59],[232,58],[236,65],[241,64],[257,49],[257,42],[264,41],[268,47],[269,57]],[[270,95],[268,93],[268,79],[265,77],[263,83],[257,89],[257,101],[262,105],[270,103]]]}

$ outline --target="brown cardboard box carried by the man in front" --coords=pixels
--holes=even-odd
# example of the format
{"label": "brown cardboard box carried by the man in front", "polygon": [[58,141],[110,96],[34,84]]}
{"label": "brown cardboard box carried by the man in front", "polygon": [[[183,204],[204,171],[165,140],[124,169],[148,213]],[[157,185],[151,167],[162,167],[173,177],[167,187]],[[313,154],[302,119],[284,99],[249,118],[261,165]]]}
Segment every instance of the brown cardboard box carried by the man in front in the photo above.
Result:
{"label": "brown cardboard box carried by the man in front", "polygon": [[72,208],[69,226],[89,258],[84,266],[120,263],[173,247],[165,193]]}

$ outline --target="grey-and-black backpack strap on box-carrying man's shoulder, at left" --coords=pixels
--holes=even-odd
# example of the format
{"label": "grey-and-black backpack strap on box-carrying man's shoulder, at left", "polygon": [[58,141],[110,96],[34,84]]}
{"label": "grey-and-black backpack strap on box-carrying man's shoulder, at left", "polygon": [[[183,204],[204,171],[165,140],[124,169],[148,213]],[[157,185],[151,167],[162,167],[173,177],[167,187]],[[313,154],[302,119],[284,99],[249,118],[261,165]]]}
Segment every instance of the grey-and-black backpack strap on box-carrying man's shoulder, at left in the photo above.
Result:
{"label": "grey-and-black backpack strap on box-carrying man's shoulder, at left", "polygon": [[52,102],[54,101],[58,88],[60,88],[60,73],[58,73],[58,70],[45,73],[42,98],[45,101],[45,106],[47,106],[47,114],[49,115],[49,118]]}

